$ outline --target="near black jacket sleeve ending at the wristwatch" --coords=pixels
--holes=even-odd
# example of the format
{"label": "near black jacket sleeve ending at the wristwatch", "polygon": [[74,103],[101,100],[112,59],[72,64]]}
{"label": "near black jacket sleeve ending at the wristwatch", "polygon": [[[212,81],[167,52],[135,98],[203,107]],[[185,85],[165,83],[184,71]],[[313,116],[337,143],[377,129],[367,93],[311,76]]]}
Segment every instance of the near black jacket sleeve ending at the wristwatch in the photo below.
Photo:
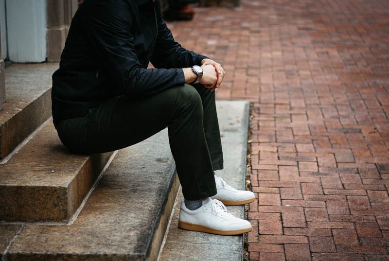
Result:
{"label": "near black jacket sleeve ending at the wristwatch", "polygon": [[[135,51],[131,33],[134,19],[130,6],[96,1],[93,12],[82,15],[90,44],[98,61],[115,84],[128,96],[145,96],[185,83],[181,69],[145,69]],[[118,1],[117,1],[118,2]]]}

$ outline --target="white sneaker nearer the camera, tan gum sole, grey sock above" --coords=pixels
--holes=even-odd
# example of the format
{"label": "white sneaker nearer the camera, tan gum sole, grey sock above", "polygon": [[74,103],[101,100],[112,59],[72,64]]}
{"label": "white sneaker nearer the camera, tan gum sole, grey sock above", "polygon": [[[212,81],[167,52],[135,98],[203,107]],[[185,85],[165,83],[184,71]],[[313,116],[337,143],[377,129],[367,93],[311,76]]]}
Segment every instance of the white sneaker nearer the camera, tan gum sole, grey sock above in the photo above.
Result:
{"label": "white sneaker nearer the camera, tan gum sole, grey sock above", "polygon": [[217,199],[206,198],[199,209],[190,210],[182,201],[178,227],[181,229],[206,232],[216,235],[240,235],[251,231],[250,222],[227,212]]}

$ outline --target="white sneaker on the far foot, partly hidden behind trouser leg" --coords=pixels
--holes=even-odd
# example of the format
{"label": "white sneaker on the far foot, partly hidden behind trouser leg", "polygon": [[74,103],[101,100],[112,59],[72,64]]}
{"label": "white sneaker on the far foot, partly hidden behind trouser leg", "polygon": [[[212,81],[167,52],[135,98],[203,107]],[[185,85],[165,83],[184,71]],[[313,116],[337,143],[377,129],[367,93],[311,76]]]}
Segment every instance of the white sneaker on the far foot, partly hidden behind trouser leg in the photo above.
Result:
{"label": "white sneaker on the far foot, partly hidden behind trouser leg", "polygon": [[255,200],[251,191],[238,191],[229,186],[221,177],[215,176],[217,194],[212,199],[218,199],[225,205],[245,205]]}

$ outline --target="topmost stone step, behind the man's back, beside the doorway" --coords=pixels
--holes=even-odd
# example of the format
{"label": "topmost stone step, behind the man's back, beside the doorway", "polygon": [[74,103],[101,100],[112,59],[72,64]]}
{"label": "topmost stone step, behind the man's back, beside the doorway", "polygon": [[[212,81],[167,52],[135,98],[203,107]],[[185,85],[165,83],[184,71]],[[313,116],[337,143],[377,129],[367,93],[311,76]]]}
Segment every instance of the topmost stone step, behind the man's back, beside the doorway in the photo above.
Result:
{"label": "topmost stone step, behind the man's back, beside the doorway", "polygon": [[0,159],[49,119],[56,63],[12,64],[5,69],[6,101],[0,111]]}

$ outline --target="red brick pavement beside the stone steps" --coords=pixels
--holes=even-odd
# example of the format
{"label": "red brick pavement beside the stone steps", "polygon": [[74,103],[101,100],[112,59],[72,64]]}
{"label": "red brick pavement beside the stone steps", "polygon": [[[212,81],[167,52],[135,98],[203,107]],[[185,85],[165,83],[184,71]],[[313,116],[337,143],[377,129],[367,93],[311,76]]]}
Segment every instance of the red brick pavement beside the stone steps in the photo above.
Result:
{"label": "red brick pavement beside the stone steps", "polygon": [[389,260],[389,1],[196,11],[176,39],[252,102],[249,260]]}

